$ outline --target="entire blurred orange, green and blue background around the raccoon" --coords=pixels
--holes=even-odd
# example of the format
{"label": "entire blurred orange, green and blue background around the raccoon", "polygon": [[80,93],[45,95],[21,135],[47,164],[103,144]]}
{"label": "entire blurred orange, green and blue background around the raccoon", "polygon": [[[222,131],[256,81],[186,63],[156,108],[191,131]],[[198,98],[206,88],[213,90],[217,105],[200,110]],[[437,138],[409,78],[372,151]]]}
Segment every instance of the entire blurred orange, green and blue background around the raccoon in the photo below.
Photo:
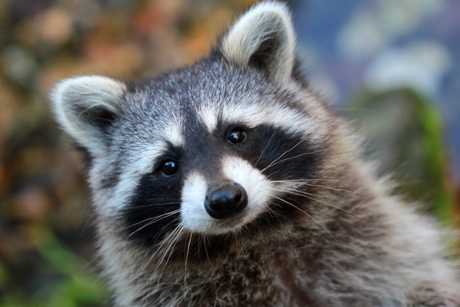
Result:
{"label": "entire blurred orange, green and blue background around the raccoon", "polygon": [[[138,79],[205,55],[252,0],[0,0],[0,307],[103,306],[88,188],[53,121],[62,78]],[[460,2],[289,1],[312,87],[442,224],[460,213]],[[458,250],[458,242],[450,242]]]}

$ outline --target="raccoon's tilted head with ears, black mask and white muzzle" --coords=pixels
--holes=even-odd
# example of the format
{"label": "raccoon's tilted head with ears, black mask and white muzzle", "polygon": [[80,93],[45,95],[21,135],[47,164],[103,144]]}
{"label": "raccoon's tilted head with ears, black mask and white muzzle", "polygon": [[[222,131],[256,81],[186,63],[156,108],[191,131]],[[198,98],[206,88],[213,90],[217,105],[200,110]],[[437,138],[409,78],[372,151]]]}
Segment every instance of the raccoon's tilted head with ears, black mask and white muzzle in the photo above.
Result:
{"label": "raccoon's tilted head with ears, black mask and white muzzle", "polygon": [[101,76],[59,83],[55,112],[91,157],[104,229],[153,244],[308,210],[302,180],[318,173],[328,127],[296,81],[294,49],[286,7],[267,2],[193,66],[136,83]]}

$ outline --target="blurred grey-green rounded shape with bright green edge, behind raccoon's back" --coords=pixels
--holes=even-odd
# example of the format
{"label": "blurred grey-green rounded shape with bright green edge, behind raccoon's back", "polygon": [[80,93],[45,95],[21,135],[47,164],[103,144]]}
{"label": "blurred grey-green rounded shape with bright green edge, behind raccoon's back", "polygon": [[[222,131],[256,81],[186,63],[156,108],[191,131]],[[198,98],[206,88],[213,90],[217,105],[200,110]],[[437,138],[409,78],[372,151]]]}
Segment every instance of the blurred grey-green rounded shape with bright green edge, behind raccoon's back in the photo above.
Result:
{"label": "blurred grey-green rounded shape with bright green edge, behind raccoon's back", "polygon": [[366,127],[367,155],[383,162],[382,172],[392,173],[400,185],[398,192],[410,201],[428,203],[444,224],[452,224],[454,200],[443,121],[433,102],[401,88],[381,93],[363,90],[351,105],[358,126]]}

